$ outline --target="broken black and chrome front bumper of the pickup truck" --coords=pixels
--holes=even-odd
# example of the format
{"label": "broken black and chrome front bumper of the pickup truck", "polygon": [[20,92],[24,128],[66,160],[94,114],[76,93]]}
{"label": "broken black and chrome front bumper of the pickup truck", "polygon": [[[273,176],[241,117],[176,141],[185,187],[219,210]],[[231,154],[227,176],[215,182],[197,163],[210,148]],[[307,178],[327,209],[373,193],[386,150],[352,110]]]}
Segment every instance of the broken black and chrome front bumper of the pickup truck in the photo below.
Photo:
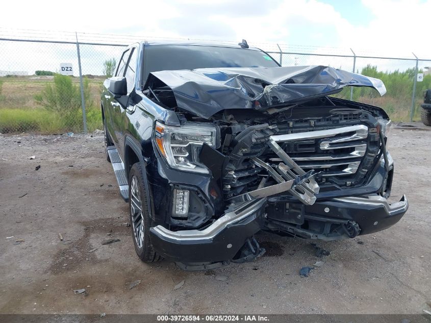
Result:
{"label": "broken black and chrome front bumper of the pickup truck", "polygon": [[[325,223],[358,223],[360,234],[369,234],[393,226],[409,207],[407,198],[389,204],[377,194],[334,198],[317,202],[303,208],[305,221]],[[231,210],[203,230],[169,231],[162,226],[150,228],[150,239],[155,250],[173,261],[181,263],[229,263],[238,257],[246,243],[261,229],[282,231],[291,235],[311,239],[335,240],[347,235],[328,236],[324,232],[313,232],[299,224],[277,220],[275,228],[271,214],[267,214],[267,200],[250,201]],[[287,219],[285,219],[287,220]],[[268,227],[268,225],[272,227]],[[305,226],[307,227],[307,226]]]}

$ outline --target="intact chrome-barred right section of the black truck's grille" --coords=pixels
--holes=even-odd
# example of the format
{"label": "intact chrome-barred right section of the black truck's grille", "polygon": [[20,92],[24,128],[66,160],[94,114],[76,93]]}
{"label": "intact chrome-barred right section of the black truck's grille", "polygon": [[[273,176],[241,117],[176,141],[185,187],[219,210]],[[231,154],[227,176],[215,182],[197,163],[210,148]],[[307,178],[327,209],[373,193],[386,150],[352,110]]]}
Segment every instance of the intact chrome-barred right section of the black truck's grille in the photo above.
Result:
{"label": "intact chrome-barred right section of the black truck's grille", "polygon": [[[367,152],[368,127],[356,125],[328,130],[299,132],[285,135],[273,135],[277,143],[292,143],[291,147],[300,146],[301,142],[314,140],[314,152],[286,151],[303,169],[322,171],[322,177],[353,175],[358,171]],[[283,145],[282,145],[283,147]],[[285,149],[285,148],[284,148]],[[279,162],[279,158],[270,158]]]}

